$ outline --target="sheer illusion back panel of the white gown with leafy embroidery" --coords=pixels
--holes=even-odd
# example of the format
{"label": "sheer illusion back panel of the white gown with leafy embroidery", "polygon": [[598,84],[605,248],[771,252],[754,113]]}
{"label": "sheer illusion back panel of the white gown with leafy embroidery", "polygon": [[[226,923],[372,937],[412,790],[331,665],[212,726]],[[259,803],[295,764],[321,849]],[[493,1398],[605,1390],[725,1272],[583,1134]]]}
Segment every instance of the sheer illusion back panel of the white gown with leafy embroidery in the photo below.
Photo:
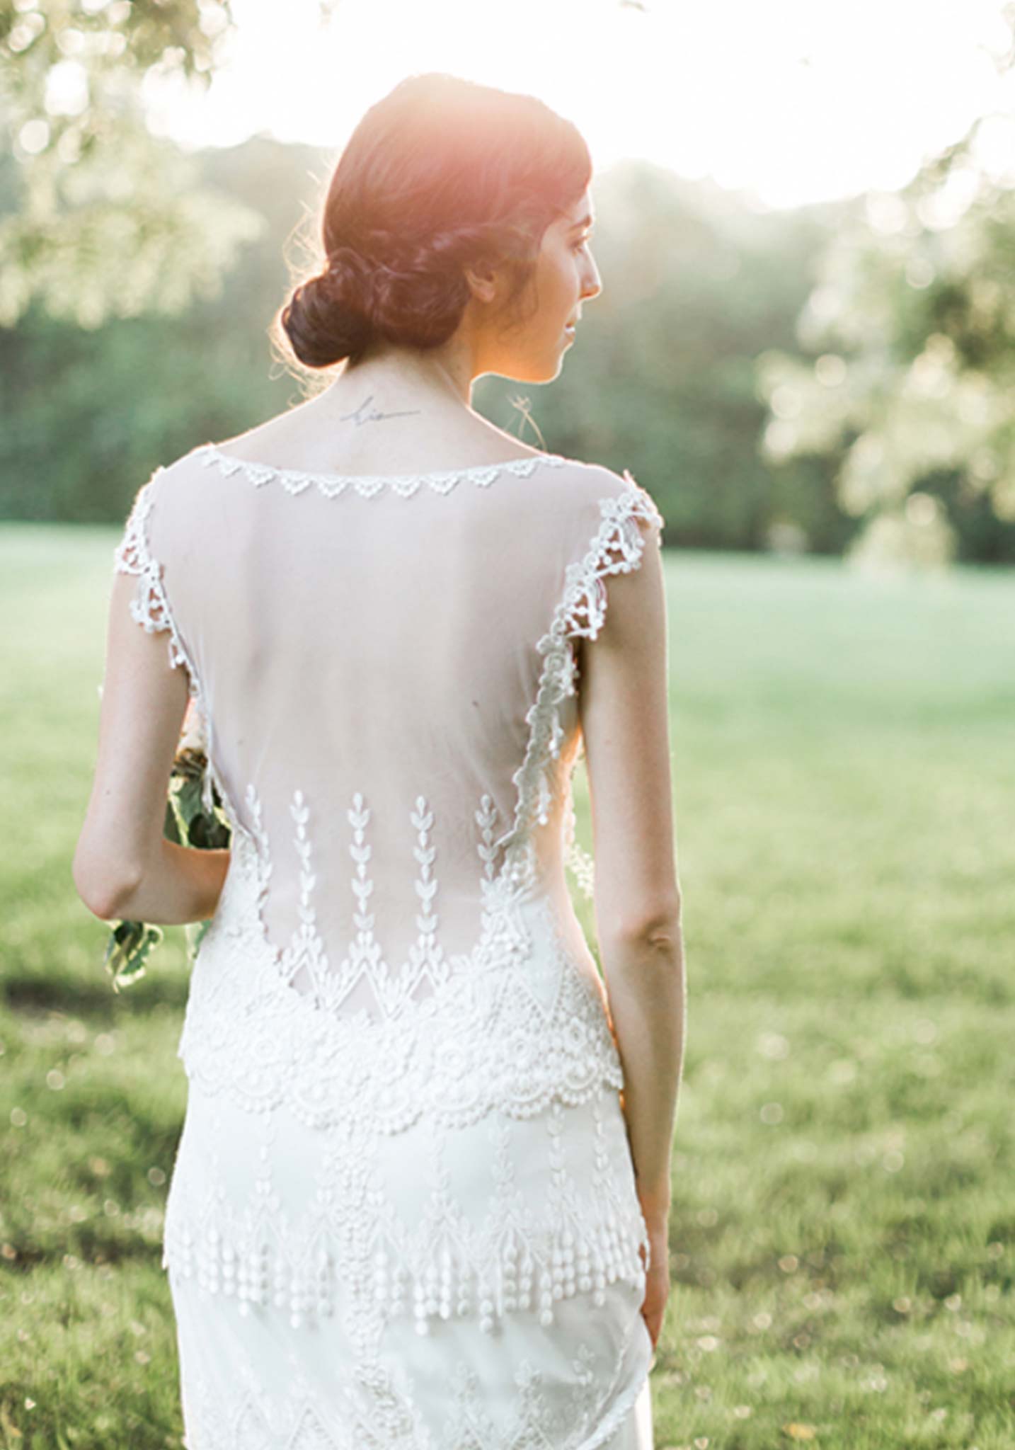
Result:
{"label": "sheer illusion back panel of the white gown with leafy embroidery", "polygon": [[[267,938],[296,990],[371,1019],[467,969],[542,748],[535,705],[568,570],[584,561],[592,580],[610,502],[651,510],[629,476],[555,455],[436,478],[287,487],[204,448],[148,486],[146,545],[216,777],[260,842]],[[605,608],[594,583],[577,632]],[[542,721],[564,771],[576,719],[570,695]],[[563,893],[561,798],[544,806],[521,824],[544,889]]]}

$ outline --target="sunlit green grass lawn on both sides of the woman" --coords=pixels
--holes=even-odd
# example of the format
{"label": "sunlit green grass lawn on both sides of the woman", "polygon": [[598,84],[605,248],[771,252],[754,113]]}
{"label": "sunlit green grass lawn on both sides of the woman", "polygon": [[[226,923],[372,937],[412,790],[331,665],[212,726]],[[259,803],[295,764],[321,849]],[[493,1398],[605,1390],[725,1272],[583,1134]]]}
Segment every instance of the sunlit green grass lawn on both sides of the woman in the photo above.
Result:
{"label": "sunlit green grass lawn on both sides of the woman", "polygon": [[[0,1450],[183,1433],[183,928],[115,996],[71,882],[117,538],[0,526]],[[1011,1450],[1015,576],[667,577],[689,1041],[655,1446]]]}

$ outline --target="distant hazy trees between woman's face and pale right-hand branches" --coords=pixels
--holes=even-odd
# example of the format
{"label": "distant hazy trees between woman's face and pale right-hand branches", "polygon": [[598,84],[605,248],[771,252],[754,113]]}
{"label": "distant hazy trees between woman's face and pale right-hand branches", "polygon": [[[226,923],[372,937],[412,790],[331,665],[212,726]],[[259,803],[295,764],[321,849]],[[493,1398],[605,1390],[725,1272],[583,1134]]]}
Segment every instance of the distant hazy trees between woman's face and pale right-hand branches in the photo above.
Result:
{"label": "distant hazy trees between woman's face and pale right-hand branches", "polygon": [[[832,471],[813,458],[776,470],[758,454],[767,410],[754,360],[793,345],[813,261],[848,204],[758,212],[635,160],[597,175],[593,197],[603,290],[547,397],[550,445],[631,468],[673,544],[761,550],[793,523],[805,547],[838,554],[856,525]],[[510,420],[519,387],[484,378],[476,397]],[[526,416],[512,426],[538,442]]]}

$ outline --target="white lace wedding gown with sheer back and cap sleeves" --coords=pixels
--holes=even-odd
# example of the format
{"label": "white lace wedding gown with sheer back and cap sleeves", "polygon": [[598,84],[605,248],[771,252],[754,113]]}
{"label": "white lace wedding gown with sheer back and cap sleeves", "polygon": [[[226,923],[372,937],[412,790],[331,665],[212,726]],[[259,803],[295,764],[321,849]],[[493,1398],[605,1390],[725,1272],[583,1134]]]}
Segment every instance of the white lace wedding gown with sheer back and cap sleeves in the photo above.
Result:
{"label": "white lace wedding gown with sheer back and cap sleeves", "polygon": [[[232,825],[162,1264],[188,1450],[651,1450],[648,1260],[566,877],[573,641],[661,518],[538,454],[139,489]],[[644,1256],[644,1257],[642,1257]]]}

